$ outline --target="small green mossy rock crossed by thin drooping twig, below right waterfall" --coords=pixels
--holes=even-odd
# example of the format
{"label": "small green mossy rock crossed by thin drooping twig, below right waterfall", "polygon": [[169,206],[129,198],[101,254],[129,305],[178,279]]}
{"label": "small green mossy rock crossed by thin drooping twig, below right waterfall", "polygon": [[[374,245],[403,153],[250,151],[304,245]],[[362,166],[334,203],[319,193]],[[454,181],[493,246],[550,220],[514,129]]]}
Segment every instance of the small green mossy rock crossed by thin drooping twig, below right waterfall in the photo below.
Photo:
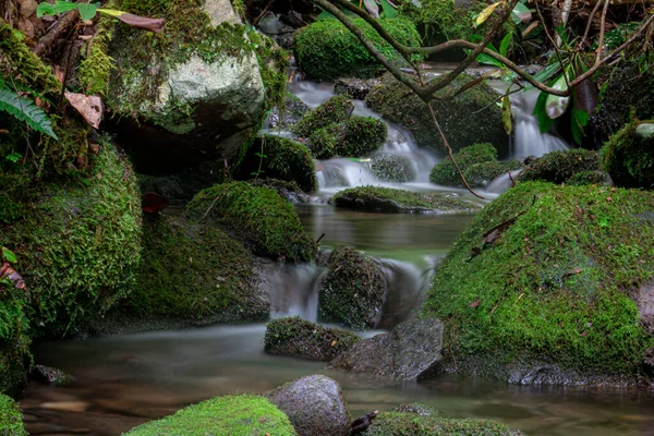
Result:
{"label": "small green mossy rock crossed by thin drooping twig, below right waterfall", "polygon": [[[495,161],[497,159],[497,149],[491,143],[474,144],[462,148],[453,157],[463,174],[465,174],[465,171],[473,165]],[[449,157],[432,168],[429,182],[445,186],[463,185],[459,171],[457,171],[455,162]]]}

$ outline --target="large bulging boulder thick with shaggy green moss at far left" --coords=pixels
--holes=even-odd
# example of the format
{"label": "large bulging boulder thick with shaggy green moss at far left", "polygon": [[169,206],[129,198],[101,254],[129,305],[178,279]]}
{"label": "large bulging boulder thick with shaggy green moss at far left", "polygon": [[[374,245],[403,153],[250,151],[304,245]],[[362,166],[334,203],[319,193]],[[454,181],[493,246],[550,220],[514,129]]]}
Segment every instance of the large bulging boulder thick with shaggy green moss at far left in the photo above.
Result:
{"label": "large bulging boulder thick with shaggy green moss at far left", "polygon": [[48,335],[125,296],[141,258],[141,197],[131,165],[109,144],[89,159],[86,173],[26,187],[23,218],[0,227],[32,295],[32,325]]}

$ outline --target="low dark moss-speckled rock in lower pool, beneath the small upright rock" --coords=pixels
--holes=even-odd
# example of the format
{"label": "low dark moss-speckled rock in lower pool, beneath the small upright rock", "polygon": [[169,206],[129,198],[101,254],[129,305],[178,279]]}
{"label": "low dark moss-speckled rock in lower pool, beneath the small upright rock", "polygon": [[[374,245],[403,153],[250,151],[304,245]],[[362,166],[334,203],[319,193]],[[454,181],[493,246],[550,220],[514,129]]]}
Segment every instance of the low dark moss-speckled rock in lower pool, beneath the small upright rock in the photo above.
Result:
{"label": "low dark moss-speckled rock in lower pool, beneath the small upright rock", "polygon": [[270,354],[330,361],[359,341],[349,330],[318,326],[299,316],[268,322],[264,337]]}

